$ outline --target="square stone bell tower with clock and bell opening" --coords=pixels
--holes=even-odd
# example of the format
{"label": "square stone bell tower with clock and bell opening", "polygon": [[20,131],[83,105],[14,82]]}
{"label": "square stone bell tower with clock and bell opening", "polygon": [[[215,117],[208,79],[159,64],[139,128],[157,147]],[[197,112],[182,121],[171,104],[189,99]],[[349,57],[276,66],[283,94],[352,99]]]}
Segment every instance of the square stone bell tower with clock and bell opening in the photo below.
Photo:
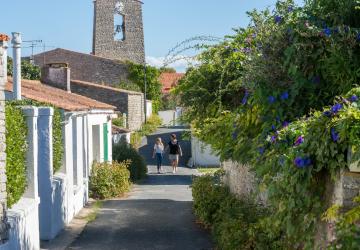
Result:
{"label": "square stone bell tower with clock and bell opening", "polygon": [[94,0],[93,55],[144,63],[142,4],[139,0]]}

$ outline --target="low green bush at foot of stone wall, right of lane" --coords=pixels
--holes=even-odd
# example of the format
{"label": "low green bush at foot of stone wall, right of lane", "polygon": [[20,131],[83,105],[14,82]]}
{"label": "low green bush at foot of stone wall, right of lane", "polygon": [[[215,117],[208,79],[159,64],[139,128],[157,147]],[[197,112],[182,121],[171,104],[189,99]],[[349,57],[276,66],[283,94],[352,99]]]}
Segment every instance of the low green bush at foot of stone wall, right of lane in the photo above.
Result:
{"label": "low green bush at foot of stone wall, right of lane", "polygon": [[196,177],[192,189],[194,213],[211,229],[218,249],[286,249],[280,234],[270,234],[263,224],[270,211],[251,199],[236,198],[217,177]]}

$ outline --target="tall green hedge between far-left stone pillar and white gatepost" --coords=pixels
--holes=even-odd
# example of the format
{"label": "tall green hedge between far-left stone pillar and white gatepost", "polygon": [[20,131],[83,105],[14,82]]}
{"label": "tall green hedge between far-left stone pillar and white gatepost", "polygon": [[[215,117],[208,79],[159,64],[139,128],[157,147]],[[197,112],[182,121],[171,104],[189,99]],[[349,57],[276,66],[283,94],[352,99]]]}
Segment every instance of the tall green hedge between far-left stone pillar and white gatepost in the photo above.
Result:
{"label": "tall green hedge between far-left stone pillar and white gatepost", "polygon": [[6,102],[6,191],[7,205],[12,207],[26,189],[26,137],[28,128],[21,108]]}

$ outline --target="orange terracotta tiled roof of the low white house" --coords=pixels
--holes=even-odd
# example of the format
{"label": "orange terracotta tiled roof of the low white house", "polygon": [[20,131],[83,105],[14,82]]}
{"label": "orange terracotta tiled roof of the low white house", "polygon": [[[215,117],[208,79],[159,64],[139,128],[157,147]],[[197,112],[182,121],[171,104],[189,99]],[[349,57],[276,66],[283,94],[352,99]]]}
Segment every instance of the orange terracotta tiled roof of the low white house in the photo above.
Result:
{"label": "orange terracotta tiled roof of the low white house", "polygon": [[[6,91],[13,91],[12,79],[9,78],[6,86]],[[68,93],[64,90],[50,87],[42,84],[39,81],[22,80],[21,94],[23,97],[39,102],[49,103],[55,107],[67,111],[88,111],[91,109],[106,109],[114,110],[115,107],[95,101],[93,99]]]}

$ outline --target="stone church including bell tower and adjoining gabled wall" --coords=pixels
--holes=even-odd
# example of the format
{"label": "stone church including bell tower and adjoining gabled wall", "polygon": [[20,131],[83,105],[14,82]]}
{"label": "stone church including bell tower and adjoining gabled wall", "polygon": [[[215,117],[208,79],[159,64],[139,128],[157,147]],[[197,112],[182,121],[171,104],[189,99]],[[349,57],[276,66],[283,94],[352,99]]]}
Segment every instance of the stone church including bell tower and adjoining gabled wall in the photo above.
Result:
{"label": "stone church including bell tower and adjoining gabled wall", "polygon": [[72,79],[116,86],[127,82],[126,62],[145,62],[142,3],[94,1],[92,54],[55,49],[34,56],[36,65],[67,63]]}

